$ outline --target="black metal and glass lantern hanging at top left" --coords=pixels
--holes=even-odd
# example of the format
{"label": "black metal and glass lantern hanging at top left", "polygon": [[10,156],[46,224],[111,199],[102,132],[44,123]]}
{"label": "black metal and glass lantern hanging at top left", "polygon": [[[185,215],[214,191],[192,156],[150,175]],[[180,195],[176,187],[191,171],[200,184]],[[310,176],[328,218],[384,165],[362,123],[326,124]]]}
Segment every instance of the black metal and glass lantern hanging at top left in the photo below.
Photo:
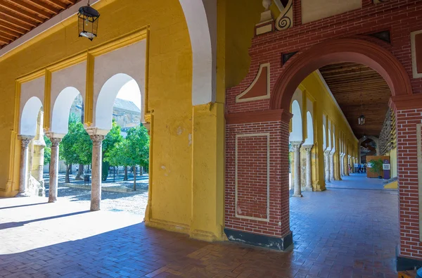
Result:
{"label": "black metal and glass lantern hanging at top left", "polygon": [[80,7],[77,13],[79,37],[87,37],[92,41],[97,34],[99,17],[100,13],[89,6],[89,1],[87,6]]}

